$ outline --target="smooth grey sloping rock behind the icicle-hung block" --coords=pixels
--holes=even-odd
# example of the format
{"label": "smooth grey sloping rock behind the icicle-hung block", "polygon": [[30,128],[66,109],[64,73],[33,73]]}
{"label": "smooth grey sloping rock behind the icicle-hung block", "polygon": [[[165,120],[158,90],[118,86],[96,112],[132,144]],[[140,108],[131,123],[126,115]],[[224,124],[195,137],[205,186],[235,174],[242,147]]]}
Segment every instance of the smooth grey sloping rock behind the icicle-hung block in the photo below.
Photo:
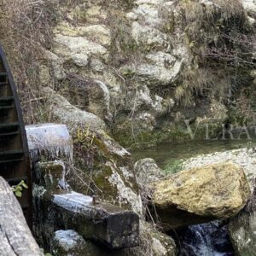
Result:
{"label": "smooth grey sloping rock behind the icicle-hung block", "polygon": [[43,91],[48,97],[49,104],[51,104],[53,116],[66,124],[69,129],[72,130],[79,125],[82,125],[84,128],[90,127],[90,129],[97,131],[107,129],[102,119],[98,118],[95,114],[74,107],[63,96],[55,93],[49,87],[44,88]]}

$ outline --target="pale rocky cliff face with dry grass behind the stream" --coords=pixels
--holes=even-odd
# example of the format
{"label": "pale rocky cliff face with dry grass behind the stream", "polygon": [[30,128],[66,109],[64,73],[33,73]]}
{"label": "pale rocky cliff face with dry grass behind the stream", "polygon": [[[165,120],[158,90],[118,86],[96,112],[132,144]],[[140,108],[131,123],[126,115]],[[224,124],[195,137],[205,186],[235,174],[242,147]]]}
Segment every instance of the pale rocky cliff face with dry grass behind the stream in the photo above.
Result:
{"label": "pale rocky cliff face with dry grass behind the stream", "polygon": [[[123,145],[188,137],[184,120],[214,123],[214,131],[253,120],[253,0],[61,1],[36,8],[47,10],[47,30],[35,32],[41,55],[38,86],[29,94],[51,87],[102,119]],[[27,16],[42,19],[33,15]],[[28,82],[36,75],[29,70]]]}

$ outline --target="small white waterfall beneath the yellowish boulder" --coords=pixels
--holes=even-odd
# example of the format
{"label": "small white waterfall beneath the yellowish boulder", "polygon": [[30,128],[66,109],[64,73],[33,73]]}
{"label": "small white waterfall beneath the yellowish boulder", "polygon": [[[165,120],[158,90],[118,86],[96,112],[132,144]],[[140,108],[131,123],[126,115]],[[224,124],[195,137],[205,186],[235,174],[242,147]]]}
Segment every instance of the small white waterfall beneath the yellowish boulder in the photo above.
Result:
{"label": "small white waterfall beneath the yellowish boulder", "polygon": [[189,226],[179,237],[180,256],[233,256],[227,226],[223,221]]}

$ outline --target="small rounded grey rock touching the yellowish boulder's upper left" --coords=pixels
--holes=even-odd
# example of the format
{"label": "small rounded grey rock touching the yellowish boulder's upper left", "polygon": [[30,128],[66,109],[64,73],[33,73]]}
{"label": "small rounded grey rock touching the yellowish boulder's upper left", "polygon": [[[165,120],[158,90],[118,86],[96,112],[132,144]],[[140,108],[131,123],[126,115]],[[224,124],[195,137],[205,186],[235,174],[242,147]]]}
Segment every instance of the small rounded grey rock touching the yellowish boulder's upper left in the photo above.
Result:
{"label": "small rounded grey rock touching the yellowish boulder's upper left", "polygon": [[134,171],[139,183],[152,183],[164,177],[159,166],[151,158],[138,160],[134,165]]}

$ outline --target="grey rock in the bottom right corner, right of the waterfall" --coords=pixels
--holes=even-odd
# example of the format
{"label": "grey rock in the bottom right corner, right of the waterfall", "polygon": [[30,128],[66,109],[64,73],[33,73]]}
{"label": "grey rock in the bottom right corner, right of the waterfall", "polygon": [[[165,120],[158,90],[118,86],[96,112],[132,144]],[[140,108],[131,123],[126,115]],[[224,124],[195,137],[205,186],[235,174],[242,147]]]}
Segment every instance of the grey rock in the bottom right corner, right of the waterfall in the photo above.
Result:
{"label": "grey rock in the bottom right corner, right of the waterfall", "polygon": [[236,254],[254,255],[256,252],[256,189],[247,207],[235,218],[230,219],[230,240]]}

